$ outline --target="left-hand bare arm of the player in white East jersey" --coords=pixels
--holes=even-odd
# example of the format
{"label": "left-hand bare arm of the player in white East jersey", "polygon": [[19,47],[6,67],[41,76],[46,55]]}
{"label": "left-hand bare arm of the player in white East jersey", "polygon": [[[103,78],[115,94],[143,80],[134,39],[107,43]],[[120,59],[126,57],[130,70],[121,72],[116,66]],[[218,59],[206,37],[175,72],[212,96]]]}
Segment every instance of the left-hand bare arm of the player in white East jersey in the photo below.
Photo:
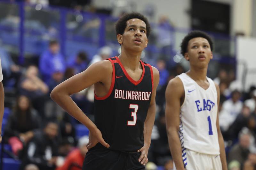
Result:
{"label": "left-hand bare arm of the player in white East jersey", "polygon": [[181,144],[179,138],[180,106],[185,96],[184,87],[180,78],[170,80],[165,91],[165,119],[169,147],[175,166],[179,170],[185,170],[182,161]]}

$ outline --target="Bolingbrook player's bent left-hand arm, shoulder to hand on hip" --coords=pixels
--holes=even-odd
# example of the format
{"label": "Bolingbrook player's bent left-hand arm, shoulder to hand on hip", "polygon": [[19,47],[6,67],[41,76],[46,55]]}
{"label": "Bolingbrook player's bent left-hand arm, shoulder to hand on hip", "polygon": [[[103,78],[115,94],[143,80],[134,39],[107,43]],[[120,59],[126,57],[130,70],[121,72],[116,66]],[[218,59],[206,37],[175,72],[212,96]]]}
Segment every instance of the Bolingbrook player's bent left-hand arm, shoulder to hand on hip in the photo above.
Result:
{"label": "Bolingbrook player's bent left-hand arm, shoulder to hand on hip", "polygon": [[100,130],[82,112],[71,99],[70,95],[95,84],[96,94],[104,96],[107,94],[111,85],[112,71],[113,69],[110,61],[97,62],[92,64],[85,71],[69,78],[60,85],[57,85],[51,92],[52,100],[89,129],[88,149],[95,146],[98,142],[106,147],[109,147],[109,145],[103,140]]}

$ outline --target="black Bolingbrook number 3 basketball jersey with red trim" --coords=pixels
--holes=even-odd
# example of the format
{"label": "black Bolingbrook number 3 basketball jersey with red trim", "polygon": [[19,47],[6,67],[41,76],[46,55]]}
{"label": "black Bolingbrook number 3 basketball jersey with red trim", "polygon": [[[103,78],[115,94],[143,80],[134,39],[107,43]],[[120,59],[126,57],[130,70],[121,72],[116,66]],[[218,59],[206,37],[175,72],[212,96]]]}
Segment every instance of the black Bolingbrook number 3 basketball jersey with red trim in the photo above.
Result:
{"label": "black Bolingbrook number 3 basketball jersey with red trim", "polygon": [[152,67],[140,60],[139,81],[133,80],[118,57],[112,63],[112,83],[104,97],[95,95],[95,124],[110,149],[137,151],[144,146],[144,122],[153,90]]}

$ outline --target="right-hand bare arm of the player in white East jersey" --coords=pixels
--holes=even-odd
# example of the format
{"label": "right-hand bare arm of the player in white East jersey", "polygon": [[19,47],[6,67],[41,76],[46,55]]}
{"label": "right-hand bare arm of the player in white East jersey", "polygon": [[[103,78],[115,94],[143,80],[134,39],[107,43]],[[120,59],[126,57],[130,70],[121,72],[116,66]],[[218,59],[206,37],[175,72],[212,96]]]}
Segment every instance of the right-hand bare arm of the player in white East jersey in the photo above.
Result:
{"label": "right-hand bare arm of the player in white East jersey", "polygon": [[[215,83],[215,86],[216,86],[216,90],[217,90],[217,94],[218,94],[218,108],[219,108],[220,87],[216,83]],[[221,131],[220,131],[220,125],[219,125],[219,111],[217,113],[216,127],[217,127],[217,131],[218,131],[218,139],[219,139],[219,145],[220,145],[220,161],[221,161],[221,165],[222,165],[222,170],[228,170],[225,146],[224,146],[224,141],[223,141],[223,137],[222,137],[222,134],[221,134]]]}

